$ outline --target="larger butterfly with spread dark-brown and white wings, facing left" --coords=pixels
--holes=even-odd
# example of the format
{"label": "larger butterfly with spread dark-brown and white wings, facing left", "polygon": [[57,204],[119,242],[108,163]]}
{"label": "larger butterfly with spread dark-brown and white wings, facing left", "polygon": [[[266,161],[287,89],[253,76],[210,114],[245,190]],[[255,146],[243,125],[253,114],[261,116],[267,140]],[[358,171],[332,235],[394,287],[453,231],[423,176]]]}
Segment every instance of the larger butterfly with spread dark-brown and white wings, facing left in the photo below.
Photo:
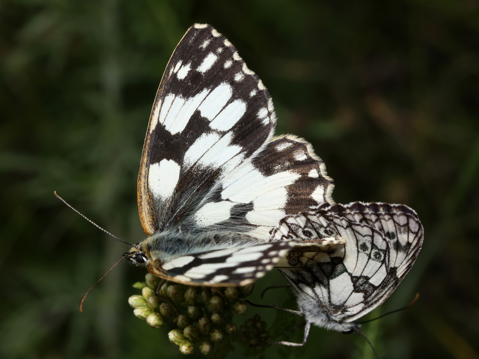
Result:
{"label": "larger butterfly with spread dark-brown and white wings, facing left", "polygon": [[332,180],[311,145],[273,137],[271,97],[213,27],[192,26],[153,104],[138,175],[148,238],[127,256],[155,276],[245,285],[297,239],[269,242],[286,215],[332,203]]}

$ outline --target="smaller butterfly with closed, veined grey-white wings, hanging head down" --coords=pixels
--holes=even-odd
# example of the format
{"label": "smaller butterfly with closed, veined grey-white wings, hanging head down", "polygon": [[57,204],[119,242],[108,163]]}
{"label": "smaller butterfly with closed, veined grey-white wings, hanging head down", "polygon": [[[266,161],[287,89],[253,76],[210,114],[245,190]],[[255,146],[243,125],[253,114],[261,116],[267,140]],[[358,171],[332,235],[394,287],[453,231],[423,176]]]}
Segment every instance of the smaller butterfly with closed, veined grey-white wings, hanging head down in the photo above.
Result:
{"label": "smaller butterfly with closed, veined grey-white wings, hanging head down", "polygon": [[277,264],[311,324],[351,333],[355,320],[382,304],[414,264],[423,240],[416,212],[404,205],[323,204],[286,216],[272,241],[302,242]]}

